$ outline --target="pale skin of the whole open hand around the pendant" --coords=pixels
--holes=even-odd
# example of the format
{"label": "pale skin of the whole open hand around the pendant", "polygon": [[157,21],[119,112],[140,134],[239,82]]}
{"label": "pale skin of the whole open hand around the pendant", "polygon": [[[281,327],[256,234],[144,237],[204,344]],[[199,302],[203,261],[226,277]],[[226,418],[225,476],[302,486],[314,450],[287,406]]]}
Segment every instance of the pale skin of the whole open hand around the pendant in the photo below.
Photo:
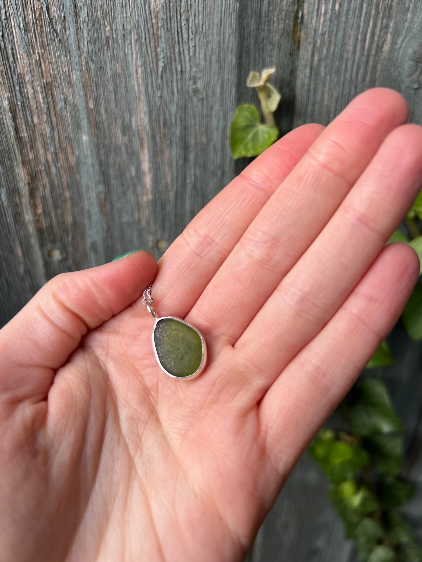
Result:
{"label": "pale skin of the whole open hand around the pendant", "polygon": [[[384,247],[422,183],[422,128],[361,94],[286,135],[158,267],[143,251],[59,275],[0,331],[0,560],[242,560],[309,441],[419,274]],[[208,366],[156,364],[161,316]]]}

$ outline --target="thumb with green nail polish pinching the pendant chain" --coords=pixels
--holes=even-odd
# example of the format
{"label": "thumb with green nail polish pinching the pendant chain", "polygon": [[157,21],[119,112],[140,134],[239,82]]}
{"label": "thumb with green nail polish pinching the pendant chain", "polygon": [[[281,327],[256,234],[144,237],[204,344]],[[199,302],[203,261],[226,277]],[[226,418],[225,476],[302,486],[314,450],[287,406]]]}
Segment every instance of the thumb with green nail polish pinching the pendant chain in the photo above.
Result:
{"label": "thumb with green nail polish pinching the pendant chain", "polygon": [[156,275],[149,252],[53,278],[0,330],[0,397],[43,400],[55,370],[92,328],[125,309]]}

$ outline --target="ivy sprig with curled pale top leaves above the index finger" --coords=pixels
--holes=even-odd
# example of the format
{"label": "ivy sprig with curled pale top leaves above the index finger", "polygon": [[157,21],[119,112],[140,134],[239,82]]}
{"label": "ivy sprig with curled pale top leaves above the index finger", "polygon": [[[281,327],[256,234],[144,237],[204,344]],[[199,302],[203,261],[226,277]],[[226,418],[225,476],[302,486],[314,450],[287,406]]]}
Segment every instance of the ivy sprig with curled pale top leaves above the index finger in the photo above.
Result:
{"label": "ivy sprig with curled pale top leaves above the index finger", "polygon": [[250,103],[242,103],[236,107],[235,115],[230,124],[230,148],[232,157],[258,156],[279,138],[273,113],[279,105],[279,92],[268,84],[268,79],[275,69],[263,69],[261,74],[250,72],[246,85],[255,88],[261,102],[265,123],[262,123],[258,109]]}

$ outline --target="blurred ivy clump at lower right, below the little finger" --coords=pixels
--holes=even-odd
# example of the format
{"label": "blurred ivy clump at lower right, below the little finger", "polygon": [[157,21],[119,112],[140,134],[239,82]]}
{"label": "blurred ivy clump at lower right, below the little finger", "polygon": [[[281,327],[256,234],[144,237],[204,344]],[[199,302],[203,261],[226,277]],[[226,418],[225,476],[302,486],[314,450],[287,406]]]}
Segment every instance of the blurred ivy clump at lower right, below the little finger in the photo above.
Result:
{"label": "blurred ivy clump at lower right, below the little finger", "polygon": [[324,429],[309,446],[330,481],[328,497],[361,562],[422,562],[414,533],[393,510],[413,495],[397,473],[402,424],[380,379],[359,380],[342,405],[351,434]]}

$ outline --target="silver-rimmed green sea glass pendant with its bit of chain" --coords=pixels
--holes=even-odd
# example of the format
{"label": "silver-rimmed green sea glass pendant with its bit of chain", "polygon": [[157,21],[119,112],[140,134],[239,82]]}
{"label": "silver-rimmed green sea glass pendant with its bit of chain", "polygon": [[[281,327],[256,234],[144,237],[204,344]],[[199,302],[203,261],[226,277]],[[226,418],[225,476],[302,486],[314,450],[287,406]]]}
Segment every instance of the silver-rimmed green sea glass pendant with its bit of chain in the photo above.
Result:
{"label": "silver-rimmed green sea glass pendant with its bit of chain", "polygon": [[143,292],[143,304],[155,318],[152,347],[161,370],[169,377],[197,377],[206,364],[206,346],[202,334],[176,316],[161,316],[152,307],[151,285]]}

